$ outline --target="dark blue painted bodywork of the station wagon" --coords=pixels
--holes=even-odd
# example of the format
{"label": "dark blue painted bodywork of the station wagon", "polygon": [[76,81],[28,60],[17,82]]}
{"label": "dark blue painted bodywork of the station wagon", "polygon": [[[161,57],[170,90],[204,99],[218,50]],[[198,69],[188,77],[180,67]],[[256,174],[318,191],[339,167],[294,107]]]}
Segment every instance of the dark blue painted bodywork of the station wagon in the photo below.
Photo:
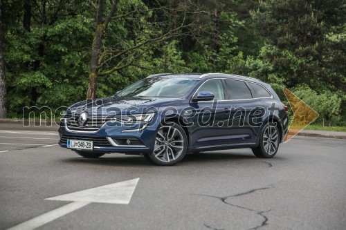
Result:
{"label": "dark blue painted bodywork of the station wagon", "polygon": [[[198,78],[199,75],[191,76]],[[273,121],[279,123],[281,141],[284,139],[284,134],[288,128],[288,118],[284,111],[283,104],[277,97],[276,93],[273,91],[271,86],[263,82],[257,82],[253,79],[243,79],[241,77],[226,77],[227,79],[241,79],[247,82],[255,82],[261,84],[273,95],[273,98],[260,98],[260,99],[246,99],[246,100],[224,100],[224,101],[202,101],[194,102],[192,96],[195,91],[206,82],[208,79],[212,78],[223,78],[219,77],[203,77],[194,86],[188,95],[183,98],[118,98],[116,95],[102,99],[102,105],[98,104],[98,101],[93,102],[79,102],[74,104],[69,109],[75,111],[78,115],[81,111],[86,111],[89,115],[100,115],[106,113],[111,114],[129,114],[138,111],[139,113],[145,113],[147,111],[154,111],[156,113],[154,119],[149,124],[144,131],[122,133],[122,131],[127,129],[136,129],[143,126],[143,124],[136,124],[131,128],[126,126],[120,126],[119,123],[114,123],[111,125],[102,126],[95,133],[76,133],[74,131],[67,131],[62,122],[59,128],[60,134],[75,135],[83,137],[136,137],[143,144],[144,147],[132,147],[132,146],[112,146],[112,147],[102,147],[95,149],[95,151],[105,152],[105,153],[128,153],[128,154],[144,154],[151,153],[154,151],[154,142],[156,137],[156,132],[159,126],[164,121],[179,122],[182,126],[186,124],[193,124],[185,128],[188,136],[188,151],[211,151],[220,150],[228,148],[247,148],[254,147],[259,144],[260,133],[262,131],[263,125],[268,121]],[[227,94],[226,94],[227,95]],[[203,92],[199,93],[198,97],[202,100],[206,97],[213,96],[212,93]],[[275,102],[279,111],[273,115],[268,113],[268,108],[271,104]],[[80,108],[84,106],[84,108]],[[172,108],[171,113],[169,108]],[[260,113],[256,115],[251,111],[254,108],[262,107],[266,113]],[[76,110],[76,108],[78,108]],[[136,108],[136,110],[130,110],[129,108]],[[192,113],[185,113],[190,111]],[[204,113],[204,115],[201,115]],[[215,120],[215,124],[209,124],[208,126],[199,126],[199,124],[205,123],[208,117]],[[233,117],[232,120],[229,117]],[[249,118],[250,117],[250,118]],[[253,126],[249,123],[249,119],[255,123],[262,122],[261,126]],[[228,126],[228,123],[233,121],[233,126]],[[200,123],[199,123],[200,122]],[[242,124],[242,126],[239,126]],[[60,146],[66,148],[66,144],[61,144]]]}

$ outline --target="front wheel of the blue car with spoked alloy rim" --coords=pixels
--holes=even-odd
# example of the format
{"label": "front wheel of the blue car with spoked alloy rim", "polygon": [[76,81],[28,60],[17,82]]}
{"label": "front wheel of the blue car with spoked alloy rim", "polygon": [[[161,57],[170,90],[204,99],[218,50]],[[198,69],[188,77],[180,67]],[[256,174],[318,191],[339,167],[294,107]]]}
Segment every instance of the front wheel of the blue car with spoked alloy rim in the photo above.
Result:
{"label": "front wheel of the blue car with spoked alloy rim", "polygon": [[188,150],[188,137],[179,124],[163,124],[158,128],[154,151],[145,158],[156,165],[170,166],[181,160]]}

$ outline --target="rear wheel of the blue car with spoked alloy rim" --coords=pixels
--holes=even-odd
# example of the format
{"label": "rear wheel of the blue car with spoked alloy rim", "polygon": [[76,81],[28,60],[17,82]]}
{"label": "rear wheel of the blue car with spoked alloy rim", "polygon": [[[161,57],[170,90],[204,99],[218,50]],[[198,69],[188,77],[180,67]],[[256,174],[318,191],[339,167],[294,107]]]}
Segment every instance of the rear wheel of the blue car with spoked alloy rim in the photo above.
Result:
{"label": "rear wheel of the blue car with spoked alloy rim", "polygon": [[279,149],[280,132],[277,126],[273,123],[265,124],[262,128],[260,144],[252,148],[253,154],[259,158],[274,157]]}

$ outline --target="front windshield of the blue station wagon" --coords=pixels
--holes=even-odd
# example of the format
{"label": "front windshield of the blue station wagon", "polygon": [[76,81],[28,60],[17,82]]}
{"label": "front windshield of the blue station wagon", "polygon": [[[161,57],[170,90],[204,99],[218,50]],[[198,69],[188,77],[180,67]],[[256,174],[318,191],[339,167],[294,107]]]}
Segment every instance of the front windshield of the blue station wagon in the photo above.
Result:
{"label": "front windshield of the blue station wagon", "polygon": [[188,77],[150,77],[121,90],[118,97],[183,97],[199,79]]}

